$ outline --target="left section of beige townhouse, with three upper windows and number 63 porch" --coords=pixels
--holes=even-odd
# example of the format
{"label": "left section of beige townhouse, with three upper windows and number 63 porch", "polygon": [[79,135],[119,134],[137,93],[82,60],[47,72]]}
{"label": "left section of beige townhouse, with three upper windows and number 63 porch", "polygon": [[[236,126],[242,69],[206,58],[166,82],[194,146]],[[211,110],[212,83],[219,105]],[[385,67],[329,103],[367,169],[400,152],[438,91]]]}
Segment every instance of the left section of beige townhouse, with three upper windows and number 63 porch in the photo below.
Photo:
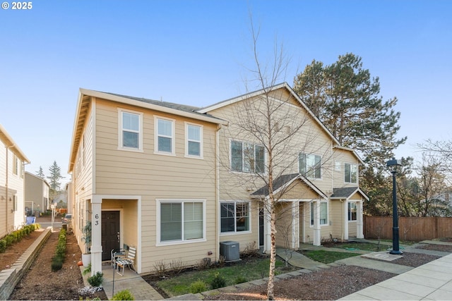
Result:
{"label": "left section of beige townhouse, with three upper windows and number 63 porch", "polygon": [[92,225],[92,273],[111,250],[136,247],[138,273],[156,262],[218,258],[218,130],[196,108],[80,90],[69,162],[73,228]]}

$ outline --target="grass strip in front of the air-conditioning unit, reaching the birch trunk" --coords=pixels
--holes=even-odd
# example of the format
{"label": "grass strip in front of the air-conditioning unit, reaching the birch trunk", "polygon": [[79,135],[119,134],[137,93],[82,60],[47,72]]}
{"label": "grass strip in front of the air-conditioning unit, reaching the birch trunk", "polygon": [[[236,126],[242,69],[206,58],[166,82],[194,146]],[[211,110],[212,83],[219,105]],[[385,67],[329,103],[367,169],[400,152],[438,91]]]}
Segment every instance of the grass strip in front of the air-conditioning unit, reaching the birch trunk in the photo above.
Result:
{"label": "grass strip in front of the air-conditioning unit, reaching the birch trunk", "polygon": [[[239,280],[238,278],[242,278],[240,279],[241,281],[239,281],[239,283],[241,283],[268,277],[269,265],[270,259],[247,259],[243,262],[233,263],[231,266],[206,269],[203,271],[185,272],[179,276],[158,281],[157,286],[164,290],[169,297],[174,297],[190,293],[189,287],[191,283],[198,280],[204,281],[207,284],[207,290],[210,290],[210,283],[213,281],[213,278],[215,278],[215,274],[217,273],[225,278],[225,286],[237,284],[237,280]],[[277,259],[277,275],[281,273],[278,270],[283,269],[284,266],[284,262]]]}

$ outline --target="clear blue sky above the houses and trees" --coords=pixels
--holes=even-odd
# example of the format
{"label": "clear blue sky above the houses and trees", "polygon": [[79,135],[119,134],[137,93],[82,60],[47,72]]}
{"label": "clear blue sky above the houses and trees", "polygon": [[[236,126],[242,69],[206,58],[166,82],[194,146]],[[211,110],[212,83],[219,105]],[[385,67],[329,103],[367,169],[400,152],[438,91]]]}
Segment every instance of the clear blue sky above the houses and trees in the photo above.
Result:
{"label": "clear blue sky above the houses and trees", "polygon": [[452,1],[1,2],[0,123],[31,173],[57,161],[66,176],[79,87],[194,106],[246,92],[250,11],[264,61],[283,43],[290,85],[313,59],[361,56],[383,99],[398,97],[398,157],[452,139]]}

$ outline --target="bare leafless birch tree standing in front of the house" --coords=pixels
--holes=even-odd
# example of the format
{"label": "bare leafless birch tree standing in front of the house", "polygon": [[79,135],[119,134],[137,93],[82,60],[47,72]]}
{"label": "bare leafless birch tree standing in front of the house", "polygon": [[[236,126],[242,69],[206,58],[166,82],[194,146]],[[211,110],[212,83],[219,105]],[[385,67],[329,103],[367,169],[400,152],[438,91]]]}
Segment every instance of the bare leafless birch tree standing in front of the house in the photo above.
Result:
{"label": "bare leafless birch tree standing in front of the house", "polygon": [[[294,94],[277,85],[278,81],[283,80],[289,61],[283,47],[275,47],[270,63],[262,64],[258,55],[259,31],[252,21],[251,35],[255,68],[249,71],[254,74],[255,80],[252,82],[258,82],[261,93],[245,94],[240,102],[230,107],[229,116],[233,116],[233,121],[220,138],[224,140],[220,145],[230,149],[222,149],[226,155],[220,158],[231,158],[230,161],[220,163],[229,171],[221,178],[225,184],[222,187],[236,187],[235,190],[230,189],[223,193],[230,195],[231,199],[243,199],[246,195],[244,191],[248,192],[248,197],[254,199],[254,204],[263,209],[267,217],[266,223],[270,229],[269,233],[266,233],[270,236],[267,297],[268,300],[274,300],[276,223],[285,215],[284,210],[278,210],[278,204],[293,188],[293,185],[281,184],[299,177],[298,162],[303,160],[299,154],[305,149],[309,149],[309,153],[325,152],[322,154],[322,160],[326,161],[331,157],[331,153],[326,151],[328,142],[317,142],[319,125],[314,121],[315,117],[307,113]],[[240,141],[236,143],[232,141],[234,139]],[[232,143],[235,143],[234,149]],[[234,152],[237,152],[237,156]],[[308,164],[309,170],[304,170],[304,176],[315,173],[321,164],[323,162],[317,161]],[[289,205],[296,211],[298,203],[296,207],[292,203]],[[298,218],[296,213],[290,216],[291,220]]]}

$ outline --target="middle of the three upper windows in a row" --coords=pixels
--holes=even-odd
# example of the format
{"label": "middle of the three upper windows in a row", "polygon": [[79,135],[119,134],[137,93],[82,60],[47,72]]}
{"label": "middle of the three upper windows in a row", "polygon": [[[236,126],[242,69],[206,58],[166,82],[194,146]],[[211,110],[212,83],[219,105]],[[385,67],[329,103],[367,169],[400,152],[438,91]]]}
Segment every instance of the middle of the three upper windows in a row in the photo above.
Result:
{"label": "middle of the three upper windows in a row", "polygon": [[174,156],[174,119],[155,116],[154,152]]}

